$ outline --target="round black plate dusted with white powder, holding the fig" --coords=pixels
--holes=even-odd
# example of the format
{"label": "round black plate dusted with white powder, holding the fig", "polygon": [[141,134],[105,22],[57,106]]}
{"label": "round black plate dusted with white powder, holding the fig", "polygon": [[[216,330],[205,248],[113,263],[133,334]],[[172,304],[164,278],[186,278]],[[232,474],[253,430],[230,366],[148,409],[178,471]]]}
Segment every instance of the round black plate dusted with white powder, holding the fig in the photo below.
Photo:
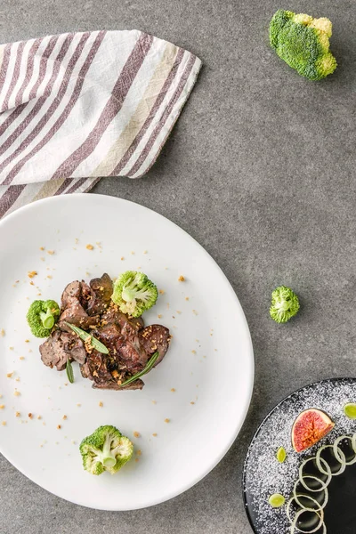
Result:
{"label": "round black plate dusted with white powder, holding the fig", "polygon": [[[281,493],[288,499],[304,458],[315,456],[321,445],[333,443],[341,435],[356,433],[356,421],[344,416],[347,402],[356,402],[356,378],[331,378],[292,393],[265,417],[247,451],[243,473],[245,507],[255,534],[289,531],[286,506],[273,509],[268,498],[272,493]],[[309,408],[325,411],[336,425],[314,447],[297,454],[291,443],[292,425],[295,417]],[[275,457],[281,446],[287,450],[283,464]],[[324,508],[328,534],[356,534],[356,464],[346,466],[343,474],[333,476],[328,496]],[[322,529],[315,534],[321,532]]]}

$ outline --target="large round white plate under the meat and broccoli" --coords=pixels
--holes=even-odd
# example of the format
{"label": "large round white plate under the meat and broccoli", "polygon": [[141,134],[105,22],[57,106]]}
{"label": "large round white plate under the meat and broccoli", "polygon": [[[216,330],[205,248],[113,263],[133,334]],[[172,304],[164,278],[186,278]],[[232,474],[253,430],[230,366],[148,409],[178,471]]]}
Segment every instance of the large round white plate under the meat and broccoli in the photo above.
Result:
{"label": "large round white plate under the meat and broccoli", "polygon": [[[165,291],[146,324],[162,323],[174,336],[143,390],[93,390],[77,364],[75,384],[65,371],[44,367],[41,341],[25,319],[29,303],[59,302],[74,279],[139,268]],[[0,269],[0,450],[21,473],[73,503],[131,510],[188,490],[223,458],[247,414],[253,350],[231,285],[187,233],[126,200],[48,198],[0,223]],[[28,271],[38,274],[29,279]],[[78,444],[99,425],[116,425],[134,441],[137,461],[115,476],[95,477],[81,465]]]}

